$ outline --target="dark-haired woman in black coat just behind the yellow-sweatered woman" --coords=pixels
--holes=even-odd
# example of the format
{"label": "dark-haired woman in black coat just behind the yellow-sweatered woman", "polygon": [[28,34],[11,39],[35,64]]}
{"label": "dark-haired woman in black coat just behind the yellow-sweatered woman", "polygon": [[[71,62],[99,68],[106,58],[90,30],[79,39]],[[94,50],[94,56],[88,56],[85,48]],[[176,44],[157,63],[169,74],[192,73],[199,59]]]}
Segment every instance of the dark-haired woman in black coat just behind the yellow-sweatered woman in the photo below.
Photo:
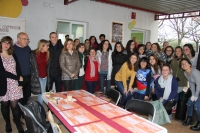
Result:
{"label": "dark-haired woman in black coat just behind the yellow-sweatered woman", "polygon": [[115,44],[115,49],[112,53],[113,69],[111,73],[111,84],[115,84],[115,74],[119,71],[121,66],[126,62],[127,55],[124,54],[124,46],[121,42]]}

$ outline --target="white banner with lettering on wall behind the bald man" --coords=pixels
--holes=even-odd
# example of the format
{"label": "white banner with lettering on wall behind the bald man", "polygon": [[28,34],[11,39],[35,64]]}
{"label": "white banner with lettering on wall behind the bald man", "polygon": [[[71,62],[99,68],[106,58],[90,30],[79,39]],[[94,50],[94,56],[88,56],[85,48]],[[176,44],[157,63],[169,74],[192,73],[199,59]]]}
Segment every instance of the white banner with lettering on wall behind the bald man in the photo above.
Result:
{"label": "white banner with lettering on wall behind the bald man", "polygon": [[17,34],[25,32],[25,19],[0,17],[0,39],[10,36],[13,42],[17,41]]}

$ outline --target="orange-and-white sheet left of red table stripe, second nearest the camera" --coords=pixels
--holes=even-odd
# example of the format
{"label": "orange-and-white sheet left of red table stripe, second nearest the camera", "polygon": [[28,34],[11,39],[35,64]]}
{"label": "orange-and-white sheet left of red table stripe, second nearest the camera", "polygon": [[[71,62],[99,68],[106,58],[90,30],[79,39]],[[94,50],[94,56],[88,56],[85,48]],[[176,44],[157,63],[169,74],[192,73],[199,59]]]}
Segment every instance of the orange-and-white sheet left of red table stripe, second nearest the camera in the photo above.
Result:
{"label": "orange-and-white sheet left of red table stripe, second nearest the camera", "polygon": [[97,118],[84,108],[65,110],[61,111],[60,114],[72,126],[99,120],[99,118]]}

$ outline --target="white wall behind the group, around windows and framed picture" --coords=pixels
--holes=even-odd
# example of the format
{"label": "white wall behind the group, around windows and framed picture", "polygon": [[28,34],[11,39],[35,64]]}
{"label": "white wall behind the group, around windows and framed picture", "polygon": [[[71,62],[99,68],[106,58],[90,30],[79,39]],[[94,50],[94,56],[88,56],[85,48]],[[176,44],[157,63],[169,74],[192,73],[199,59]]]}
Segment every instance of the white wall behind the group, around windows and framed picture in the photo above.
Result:
{"label": "white wall behind the group, around windows and framed picture", "polygon": [[[45,7],[45,4],[48,6]],[[88,22],[88,38],[94,35],[98,39],[103,33],[109,40],[112,21],[123,22],[125,45],[130,39],[128,23],[132,21],[132,12],[136,12],[137,24],[134,28],[150,30],[150,40],[147,41],[157,42],[158,22],[154,21],[154,14],[90,0],[79,0],[69,5],[64,5],[64,0],[29,0],[19,18],[26,19],[26,32],[33,49],[39,39],[49,39],[49,33],[56,30],[57,19]]]}

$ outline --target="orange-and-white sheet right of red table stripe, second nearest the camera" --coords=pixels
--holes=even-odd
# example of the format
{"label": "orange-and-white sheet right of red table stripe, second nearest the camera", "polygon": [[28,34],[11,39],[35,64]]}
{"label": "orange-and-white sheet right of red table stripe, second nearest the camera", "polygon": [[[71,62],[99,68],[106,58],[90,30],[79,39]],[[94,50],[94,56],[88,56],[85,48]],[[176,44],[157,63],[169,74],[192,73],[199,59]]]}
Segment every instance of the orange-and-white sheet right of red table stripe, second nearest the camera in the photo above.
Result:
{"label": "orange-and-white sheet right of red table stripe, second nearest the camera", "polygon": [[128,112],[120,107],[117,107],[111,103],[108,104],[102,104],[97,106],[92,106],[93,109],[98,111],[99,113],[105,115],[108,118],[114,118],[119,117],[127,114],[132,114],[131,112]]}

